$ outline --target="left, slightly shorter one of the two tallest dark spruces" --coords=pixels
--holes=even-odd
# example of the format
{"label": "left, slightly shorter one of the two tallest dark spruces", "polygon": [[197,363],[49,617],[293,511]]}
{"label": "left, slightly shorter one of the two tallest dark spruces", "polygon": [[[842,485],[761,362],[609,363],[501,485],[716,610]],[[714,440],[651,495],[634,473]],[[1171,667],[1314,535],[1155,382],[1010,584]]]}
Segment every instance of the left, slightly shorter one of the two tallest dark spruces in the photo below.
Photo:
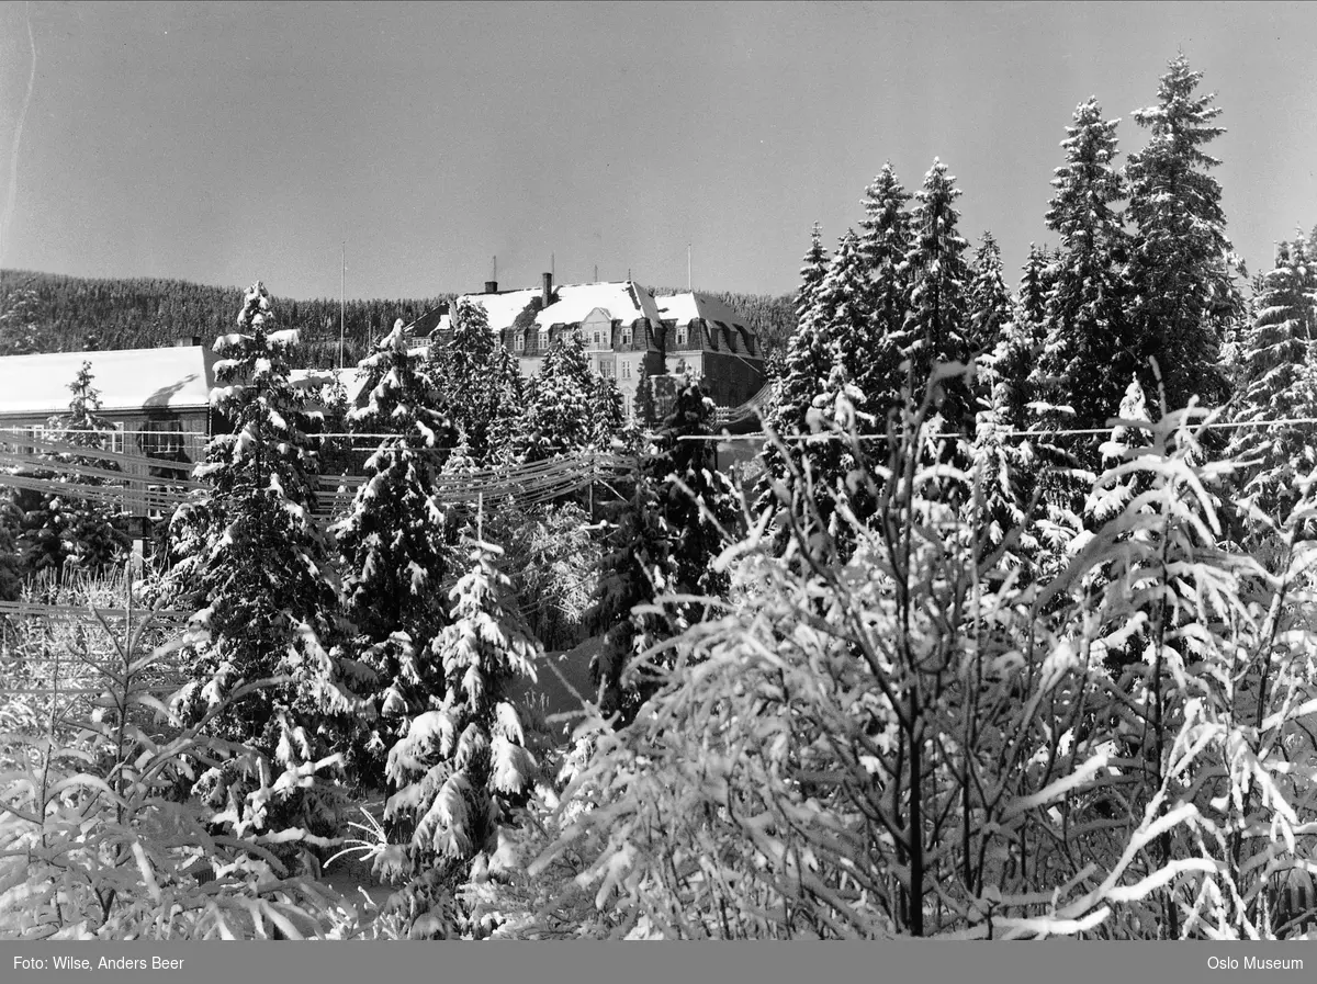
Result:
{"label": "left, slightly shorter one of the two tallest dark spruces", "polygon": [[1125,197],[1114,163],[1117,122],[1102,120],[1096,99],[1079,105],[1062,142],[1065,164],[1056,168],[1047,212],[1062,246],[1035,385],[1050,403],[1075,410],[1064,422],[1076,428],[1105,426],[1119,408],[1122,380],[1142,372],[1127,316],[1129,247],[1114,208]]}

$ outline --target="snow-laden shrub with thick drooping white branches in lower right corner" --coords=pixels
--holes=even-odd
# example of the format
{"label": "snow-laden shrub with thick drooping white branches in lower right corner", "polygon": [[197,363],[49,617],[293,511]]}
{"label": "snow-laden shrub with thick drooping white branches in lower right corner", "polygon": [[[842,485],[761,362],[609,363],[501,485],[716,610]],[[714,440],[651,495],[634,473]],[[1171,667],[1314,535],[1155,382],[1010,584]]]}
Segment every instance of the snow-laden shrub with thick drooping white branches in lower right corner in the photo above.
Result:
{"label": "snow-laden shrub with thick drooping white branches in lower right corner", "polygon": [[[1117,842],[1133,817],[1167,825],[1131,858],[1142,877],[1112,931],[1143,937],[1267,938],[1268,888],[1305,871],[1313,818],[1313,613],[1296,588],[1314,555],[1297,531],[1313,516],[1310,480],[1270,574],[1222,547],[1220,492],[1233,462],[1210,462],[1205,414],[1121,421],[1094,485],[1100,525],[1073,568],[1112,747],[1102,797]],[[1208,417],[1210,421],[1210,417]],[[1266,833],[1263,833],[1266,831]]]}

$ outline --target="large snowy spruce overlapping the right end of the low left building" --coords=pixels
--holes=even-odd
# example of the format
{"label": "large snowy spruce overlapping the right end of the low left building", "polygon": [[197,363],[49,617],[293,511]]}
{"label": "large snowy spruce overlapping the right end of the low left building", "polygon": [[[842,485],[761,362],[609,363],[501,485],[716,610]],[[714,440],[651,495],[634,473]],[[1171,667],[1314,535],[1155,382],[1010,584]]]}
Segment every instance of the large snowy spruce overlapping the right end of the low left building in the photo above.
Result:
{"label": "large snowy spruce overlapping the right end of the low left building", "polygon": [[[230,430],[211,438],[194,471],[204,488],[170,529],[178,555],[171,580],[179,604],[194,606],[191,625],[200,633],[179,704],[198,720],[265,681],[225,705],[211,727],[306,779],[366,710],[353,693],[363,677],[353,679],[352,664],[335,651],[344,635],[338,579],[312,518],[316,459],[302,429],[304,397],[288,383],[284,359],[292,333],[271,330],[261,283],[244,296],[237,326],[215,343],[220,385],[211,395]],[[252,783],[265,789],[269,775],[234,759],[205,781],[223,802]],[[316,813],[324,820],[316,791],[298,785],[279,787],[288,799],[261,806],[269,810],[262,822],[287,822],[291,813],[299,822]]]}

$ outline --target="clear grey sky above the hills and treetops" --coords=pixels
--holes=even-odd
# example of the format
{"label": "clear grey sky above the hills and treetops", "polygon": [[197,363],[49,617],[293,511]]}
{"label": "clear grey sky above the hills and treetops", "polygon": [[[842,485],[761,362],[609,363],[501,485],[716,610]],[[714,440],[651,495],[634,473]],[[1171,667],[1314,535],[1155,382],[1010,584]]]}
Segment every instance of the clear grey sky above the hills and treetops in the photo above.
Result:
{"label": "clear grey sky above the hills and treetops", "polygon": [[346,239],[350,297],[423,297],[494,255],[680,287],[690,243],[697,288],[777,293],[940,157],[1014,283],[1076,104],[1123,160],[1179,50],[1266,268],[1317,222],[1317,4],[3,3],[0,266],[336,297]]}

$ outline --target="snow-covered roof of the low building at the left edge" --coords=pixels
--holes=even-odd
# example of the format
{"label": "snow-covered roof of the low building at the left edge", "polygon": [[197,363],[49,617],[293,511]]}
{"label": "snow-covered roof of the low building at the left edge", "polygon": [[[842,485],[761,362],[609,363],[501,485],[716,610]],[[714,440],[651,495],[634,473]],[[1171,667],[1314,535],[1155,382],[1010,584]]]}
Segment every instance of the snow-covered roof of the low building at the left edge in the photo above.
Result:
{"label": "snow-covered roof of the low building at the left edge", "polygon": [[103,412],[200,409],[215,384],[215,357],[203,346],[7,355],[0,357],[0,414],[67,410],[68,384],[83,362],[91,363]]}

